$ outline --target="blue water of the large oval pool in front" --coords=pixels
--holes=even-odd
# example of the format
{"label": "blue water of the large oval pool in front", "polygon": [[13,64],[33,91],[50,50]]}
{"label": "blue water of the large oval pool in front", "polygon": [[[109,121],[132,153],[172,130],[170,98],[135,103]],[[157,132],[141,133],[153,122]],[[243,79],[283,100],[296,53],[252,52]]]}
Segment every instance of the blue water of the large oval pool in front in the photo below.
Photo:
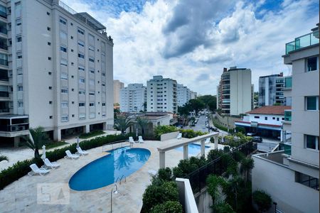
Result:
{"label": "blue water of the large oval pool in front", "polygon": [[114,183],[122,175],[128,177],[146,163],[151,153],[145,148],[117,148],[91,163],[88,163],[69,181],[73,190],[95,190]]}

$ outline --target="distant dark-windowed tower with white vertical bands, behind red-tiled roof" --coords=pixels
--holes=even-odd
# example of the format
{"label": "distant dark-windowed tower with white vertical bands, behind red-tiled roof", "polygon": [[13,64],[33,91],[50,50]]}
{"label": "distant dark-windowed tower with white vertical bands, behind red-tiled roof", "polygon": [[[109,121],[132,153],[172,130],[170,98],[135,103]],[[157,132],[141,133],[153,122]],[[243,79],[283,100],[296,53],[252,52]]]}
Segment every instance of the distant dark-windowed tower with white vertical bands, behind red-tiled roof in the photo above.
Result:
{"label": "distant dark-windowed tower with white vertical bands, behind red-tiled roof", "polygon": [[285,105],[283,72],[259,77],[259,107]]}

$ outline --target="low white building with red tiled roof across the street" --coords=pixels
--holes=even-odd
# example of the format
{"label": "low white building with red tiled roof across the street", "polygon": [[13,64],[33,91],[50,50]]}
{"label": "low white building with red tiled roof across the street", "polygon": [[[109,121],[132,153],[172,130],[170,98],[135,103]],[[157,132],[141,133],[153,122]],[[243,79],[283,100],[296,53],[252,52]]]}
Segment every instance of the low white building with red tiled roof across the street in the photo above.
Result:
{"label": "low white building with red tiled roof across the street", "polygon": [[257,133],[260,136],[282,138],[282,122],[284,112],[291,110],[290,106],[265,106],[247,111],[241,121],[236,120],[236,127],[243,127],[248,133]]}

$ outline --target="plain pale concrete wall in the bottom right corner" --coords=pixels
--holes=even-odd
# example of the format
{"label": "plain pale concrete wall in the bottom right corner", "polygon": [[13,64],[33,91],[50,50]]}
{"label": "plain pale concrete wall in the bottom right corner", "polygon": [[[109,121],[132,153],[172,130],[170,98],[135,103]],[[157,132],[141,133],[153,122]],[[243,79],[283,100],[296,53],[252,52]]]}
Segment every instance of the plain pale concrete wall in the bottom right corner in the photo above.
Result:
{"label": "plain pale concrete wall in the bottom right corner", "polygon": [[252,192],[264,190],[282,212],[319,212],[319,191],[295,182],[293,170],[257,155],[252,158]]}

